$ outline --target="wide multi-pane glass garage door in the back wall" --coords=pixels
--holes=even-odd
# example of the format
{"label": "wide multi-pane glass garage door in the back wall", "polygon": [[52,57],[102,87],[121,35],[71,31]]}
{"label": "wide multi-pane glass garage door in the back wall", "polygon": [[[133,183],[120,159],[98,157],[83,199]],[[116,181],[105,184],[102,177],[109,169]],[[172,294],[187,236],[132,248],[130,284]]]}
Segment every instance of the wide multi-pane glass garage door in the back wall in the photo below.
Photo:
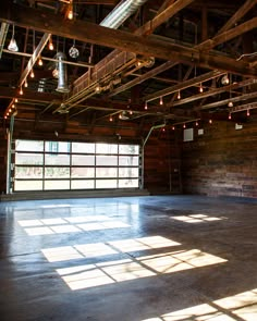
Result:
{"label": "wide multi-pane glass garage door in the back wall", "polygon": [[14,190],[137,188],[139,146],[15,140]]}

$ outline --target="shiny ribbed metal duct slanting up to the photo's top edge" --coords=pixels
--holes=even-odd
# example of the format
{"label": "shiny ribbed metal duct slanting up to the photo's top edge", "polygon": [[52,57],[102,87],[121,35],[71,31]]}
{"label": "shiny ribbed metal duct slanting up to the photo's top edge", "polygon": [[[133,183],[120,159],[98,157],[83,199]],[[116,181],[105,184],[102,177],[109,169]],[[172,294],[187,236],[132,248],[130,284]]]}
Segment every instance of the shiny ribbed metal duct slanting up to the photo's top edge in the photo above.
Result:
{"label": "shiny ribbed metal duct slanting up to the photo's top edge", "polygon": [[103,27],[118,29],[147,0],[123,0],[100,23]]}

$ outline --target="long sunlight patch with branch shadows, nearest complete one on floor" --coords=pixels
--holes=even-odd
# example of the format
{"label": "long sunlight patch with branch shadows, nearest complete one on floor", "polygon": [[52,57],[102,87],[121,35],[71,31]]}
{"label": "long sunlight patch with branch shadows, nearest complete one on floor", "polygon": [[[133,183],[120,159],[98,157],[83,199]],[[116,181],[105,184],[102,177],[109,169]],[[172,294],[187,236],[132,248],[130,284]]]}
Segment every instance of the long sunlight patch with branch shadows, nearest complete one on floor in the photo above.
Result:
{"label": "long sunlight patch with branch shadows, nearest complete one on floor", "polygon": [[105,261],[71,269],[64,268],[58,269],[57,272],[68,286],[75,291],[222,262],[225,262],[222,258],[194,249],[118,261]]}

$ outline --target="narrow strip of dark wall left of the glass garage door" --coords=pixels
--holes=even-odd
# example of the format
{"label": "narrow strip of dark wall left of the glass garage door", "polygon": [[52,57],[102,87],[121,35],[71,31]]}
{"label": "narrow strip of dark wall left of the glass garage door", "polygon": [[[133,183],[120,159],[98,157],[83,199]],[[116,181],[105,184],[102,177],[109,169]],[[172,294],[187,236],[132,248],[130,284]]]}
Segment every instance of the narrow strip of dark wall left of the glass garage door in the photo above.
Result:
{"label": "narrow strip of dark wall left of the glass garage door", "polygon": [[5,131],[0,129],[0,194],[7,189],[8,140]]}

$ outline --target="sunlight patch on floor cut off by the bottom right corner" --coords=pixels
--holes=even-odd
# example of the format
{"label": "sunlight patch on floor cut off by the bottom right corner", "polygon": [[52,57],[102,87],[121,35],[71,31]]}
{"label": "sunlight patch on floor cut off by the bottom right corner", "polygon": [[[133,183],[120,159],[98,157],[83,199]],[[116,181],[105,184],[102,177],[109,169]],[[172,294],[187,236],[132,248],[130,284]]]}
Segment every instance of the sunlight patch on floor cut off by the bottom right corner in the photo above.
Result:
{"label": "sunlight patch on floor cut off by the bottom right corner", "polygon": [[256,321],[257,289],[142,321]]}

